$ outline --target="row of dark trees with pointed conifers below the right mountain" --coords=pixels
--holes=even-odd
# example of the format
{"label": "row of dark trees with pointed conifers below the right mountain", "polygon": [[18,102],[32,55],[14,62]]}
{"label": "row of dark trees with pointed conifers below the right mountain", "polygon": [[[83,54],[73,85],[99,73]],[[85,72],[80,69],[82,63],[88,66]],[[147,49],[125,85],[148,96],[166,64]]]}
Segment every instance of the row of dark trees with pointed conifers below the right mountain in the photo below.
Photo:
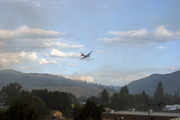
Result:
{"label": "row of dark trees with pointed conifers below the right mountain", "polygon": [[149,96],[144,90],[142,93],[131,95],[129,94],[127,86],[123,86],[118,93],[114,93],[112,96],[104,89],[99,96],[92,96],[87,100],[94,101],[104,107],[109,107],[114,110],[129,110],[135,108],[140,111],[148,110],[149,104],[151,103],[158,104],[163,102],[160,107],[153,107],[155,110],[161,110],[165,105],[180,103],[179,92],[175,91],[174,95],[164,93],[161,81],[157,84],[154,96]]}

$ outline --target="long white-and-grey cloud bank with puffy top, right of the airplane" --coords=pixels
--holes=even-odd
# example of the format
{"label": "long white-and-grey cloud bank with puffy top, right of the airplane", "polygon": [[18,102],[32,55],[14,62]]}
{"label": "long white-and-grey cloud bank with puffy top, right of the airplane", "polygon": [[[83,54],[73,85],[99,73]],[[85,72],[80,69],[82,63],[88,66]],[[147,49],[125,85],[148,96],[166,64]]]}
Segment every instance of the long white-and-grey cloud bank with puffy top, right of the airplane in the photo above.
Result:
{"label": "long white-and-grey cloud bank with puffy top, right of the airplane", "polygon": [[180,32],[168,31],[165,26],[158,26],[153,31],[145,28],[133,31],[110,31],[107,35],[114,38],[99,38],[100,41],[113,46],[141,46],[154,43],[166,43],[180,38]]}

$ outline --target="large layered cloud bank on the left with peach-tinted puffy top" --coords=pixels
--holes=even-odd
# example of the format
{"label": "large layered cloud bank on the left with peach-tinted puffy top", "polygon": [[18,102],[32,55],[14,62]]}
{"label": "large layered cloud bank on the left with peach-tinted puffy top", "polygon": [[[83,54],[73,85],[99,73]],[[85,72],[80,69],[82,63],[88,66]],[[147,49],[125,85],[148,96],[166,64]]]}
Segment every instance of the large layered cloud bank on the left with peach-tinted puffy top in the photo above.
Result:
{"label": "large layered cloud bank on the left with peach-tinted puffy top", "polygon": [[61,43],[59,37],[66,37],[69,34],[57,31],[42,29],[30,29],[28,26],[21,26],[17,30],[0,30],[0,50],[4,51],[38,51],[57,47],[59,49],[80,49],[83,45],[77,43]]}

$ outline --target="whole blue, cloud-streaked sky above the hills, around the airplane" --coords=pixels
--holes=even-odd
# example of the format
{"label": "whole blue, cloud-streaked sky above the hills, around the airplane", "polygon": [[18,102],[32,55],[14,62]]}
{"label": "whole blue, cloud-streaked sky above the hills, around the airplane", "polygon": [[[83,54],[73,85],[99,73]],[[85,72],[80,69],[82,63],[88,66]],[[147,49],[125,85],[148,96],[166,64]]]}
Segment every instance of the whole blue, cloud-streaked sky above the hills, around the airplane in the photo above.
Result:
{"label": "whole blue, cloud-streaked sky above the hills, around the airplane", "polygon": [[115,86],[180,70],[179,6],[179,0],[0,0],[0,70]]}

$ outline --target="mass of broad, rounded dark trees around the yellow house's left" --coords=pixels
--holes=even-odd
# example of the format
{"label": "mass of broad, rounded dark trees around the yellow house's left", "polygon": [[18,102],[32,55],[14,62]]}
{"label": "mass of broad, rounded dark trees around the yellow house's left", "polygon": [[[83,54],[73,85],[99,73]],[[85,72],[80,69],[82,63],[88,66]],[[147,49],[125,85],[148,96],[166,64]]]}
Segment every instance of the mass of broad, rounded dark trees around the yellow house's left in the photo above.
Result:
{"label": "mass of broad, rounded dark trees around the yellow house's left", "polygon": [[76,102],[75,96],[71,93],[52,92],[47,89],[29,92],[22,90],[18,83],[10,83],[3,87],[0,96],[4,98],[5,105],[10,106],[6,111],[0,111],[0,120],[11,120],[13,117],[14,120],[30,120],[32,116],[39,119],[39,115],[49,115],[50,110],[59,110],[68,115],[72,111],[71,104]]}

